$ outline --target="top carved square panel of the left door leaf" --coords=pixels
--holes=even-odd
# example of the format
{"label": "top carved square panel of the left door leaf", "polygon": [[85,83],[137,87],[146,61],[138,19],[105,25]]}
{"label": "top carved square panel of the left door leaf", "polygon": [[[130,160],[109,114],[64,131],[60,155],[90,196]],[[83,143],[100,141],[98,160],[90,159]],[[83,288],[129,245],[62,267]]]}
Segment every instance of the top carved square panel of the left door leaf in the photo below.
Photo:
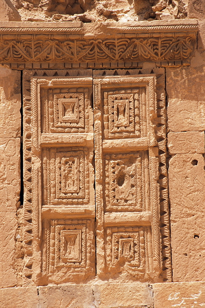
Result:
{"label": "top carved square panel of the left door leaf", "polygon": [[[69,84],[70,79],[62,79]],[[71,85],[70,85],[71,86]],[[41,88],[42,127],[49,133],[83,133],[88,130],[89,88]]]}

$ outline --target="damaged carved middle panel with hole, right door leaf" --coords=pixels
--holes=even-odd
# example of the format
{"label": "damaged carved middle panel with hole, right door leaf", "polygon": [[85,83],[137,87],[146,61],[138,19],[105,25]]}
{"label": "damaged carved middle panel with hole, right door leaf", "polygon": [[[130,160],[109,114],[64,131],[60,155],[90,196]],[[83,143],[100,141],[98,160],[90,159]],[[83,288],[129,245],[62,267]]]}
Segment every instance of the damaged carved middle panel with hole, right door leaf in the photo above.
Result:
{"label": "damaged carved middle panel with hole, right door leaf", "polygon": [[105,156],[106,211],[142,211],[141,168],[139,152]]}

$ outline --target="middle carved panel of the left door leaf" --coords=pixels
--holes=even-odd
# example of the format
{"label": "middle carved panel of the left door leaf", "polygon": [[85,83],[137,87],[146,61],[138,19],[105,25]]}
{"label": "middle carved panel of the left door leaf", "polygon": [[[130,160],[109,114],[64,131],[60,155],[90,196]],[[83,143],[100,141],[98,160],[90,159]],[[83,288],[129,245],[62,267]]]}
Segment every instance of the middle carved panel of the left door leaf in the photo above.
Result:
{"label": "middle carved panel of the left door leaf", "polygon": [[43,155],[43,205],[88,203],[87,148],[46,148]]}

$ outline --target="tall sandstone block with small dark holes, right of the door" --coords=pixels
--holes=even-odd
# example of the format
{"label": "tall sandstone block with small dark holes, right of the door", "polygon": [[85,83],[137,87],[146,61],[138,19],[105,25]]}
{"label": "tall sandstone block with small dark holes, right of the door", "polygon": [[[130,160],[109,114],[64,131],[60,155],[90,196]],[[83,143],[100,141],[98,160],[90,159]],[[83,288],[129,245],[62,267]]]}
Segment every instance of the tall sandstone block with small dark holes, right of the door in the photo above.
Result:
{"label": "tall sandstone block with small dark holes, right of the door", "polygon": [[203,281],[205,262],[204,158],[176,154],[169,161],[173,281]]}

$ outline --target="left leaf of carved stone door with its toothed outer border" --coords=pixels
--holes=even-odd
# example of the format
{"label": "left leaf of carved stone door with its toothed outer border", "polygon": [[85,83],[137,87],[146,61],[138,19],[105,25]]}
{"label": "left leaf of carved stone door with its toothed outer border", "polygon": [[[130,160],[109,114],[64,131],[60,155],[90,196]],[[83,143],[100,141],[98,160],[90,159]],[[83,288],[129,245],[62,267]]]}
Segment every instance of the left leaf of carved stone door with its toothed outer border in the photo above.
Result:
{"label": "left leaf of carved stone door with its toothed outer border", "polygon": [[91,70],[24,71],[24,286],[95,274],[92,84]]}

